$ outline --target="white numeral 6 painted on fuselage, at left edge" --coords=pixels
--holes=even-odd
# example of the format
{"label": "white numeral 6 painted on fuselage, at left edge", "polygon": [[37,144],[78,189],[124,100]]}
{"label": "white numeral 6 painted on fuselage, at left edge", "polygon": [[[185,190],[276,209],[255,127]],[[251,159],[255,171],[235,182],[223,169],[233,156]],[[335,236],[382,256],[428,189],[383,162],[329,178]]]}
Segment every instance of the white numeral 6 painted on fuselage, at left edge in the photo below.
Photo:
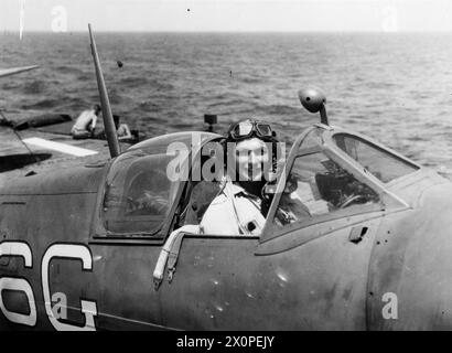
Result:
{"label": "white numeral 6 painted on fuselage, at left edge", "polygon": [[[25,263],[25,267],[31,268],[32,255],[30,246],[20,242],[3,242],[0,244],[1,256],[21,256]],[[25,293],[29,301],[30,313],[18,313],[8,310],[3,303],[3,290],[17,290]],[[33,289],[29,281],[24,278],[2,277],[0,278],[0,309],[3,315],[11,322],[34,327],[36,324],[36,304],[34,302]]]}

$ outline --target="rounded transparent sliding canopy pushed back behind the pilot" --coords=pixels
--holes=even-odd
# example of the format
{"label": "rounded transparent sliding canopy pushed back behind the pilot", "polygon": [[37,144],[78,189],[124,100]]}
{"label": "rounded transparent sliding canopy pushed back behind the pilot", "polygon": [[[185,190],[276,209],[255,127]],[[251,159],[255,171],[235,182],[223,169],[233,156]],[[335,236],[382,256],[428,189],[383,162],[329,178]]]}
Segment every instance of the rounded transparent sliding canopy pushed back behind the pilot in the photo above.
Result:
{"label": "rounded transparent sliding canopy pushed back behind the pilot", "polygon": [[[219,135],[179,132],[134,145],[111,164],[107,175],[103,218],[107,232],[157,234],[169,217],[180,180],[172,178],[177,161],[175,150],[190,152]],[[187,169],[187,164],[181,164]],[[173,169],[171,169],[174,167]],[[179,170],[183,173],[187,170]],[[174,176],[174,175],[173,175]],[[177,176],[177,175],[175,175]]]}

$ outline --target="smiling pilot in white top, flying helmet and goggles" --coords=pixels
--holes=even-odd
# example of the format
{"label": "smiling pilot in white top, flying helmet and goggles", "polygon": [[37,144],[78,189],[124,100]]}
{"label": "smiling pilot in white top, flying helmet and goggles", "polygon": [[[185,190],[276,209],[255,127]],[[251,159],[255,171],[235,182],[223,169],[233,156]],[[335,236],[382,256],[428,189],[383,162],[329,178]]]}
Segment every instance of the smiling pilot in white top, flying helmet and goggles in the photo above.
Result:
{"label": "smiling pilot in white top, flying helmet and goggles", "polygon": [[[204,196],[209,200],[197,222],[185,222],[184,227],[196,223],[196,226],[189,226],[190,232],[260,235],[271,202],[266,190],[275,181],[271,178],[275,178],[277,143],[267,122],[247,119],[233,124],[222,141],[226,162],[223,178],[211,192],[212,196]],[[227,153],[234,153],[233,158]]]}

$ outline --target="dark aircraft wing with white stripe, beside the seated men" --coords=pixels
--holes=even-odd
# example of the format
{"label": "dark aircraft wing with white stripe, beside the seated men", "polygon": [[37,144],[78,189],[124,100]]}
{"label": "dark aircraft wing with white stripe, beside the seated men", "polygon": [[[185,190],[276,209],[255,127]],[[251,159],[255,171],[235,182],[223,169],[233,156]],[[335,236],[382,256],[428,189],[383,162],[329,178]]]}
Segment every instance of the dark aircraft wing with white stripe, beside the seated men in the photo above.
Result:
{"label": "dark aircraft wing with white stripe, beside the seated men", "polygon": [[[55,172],[62,168],[101,164],[110,159],[106,140],[73,139],[74,121],[53,119],[57,115],[32,109],[0,111],[0,120],[11,122],[11,126],[0,125],[0,185],[4,180],[24,176],[31,171]],[[40,124],[42,117],[51,124]],[[97,128],[103,128],[101,121]],[[130,143],[120,142],[120,146],[126,150]]]}

